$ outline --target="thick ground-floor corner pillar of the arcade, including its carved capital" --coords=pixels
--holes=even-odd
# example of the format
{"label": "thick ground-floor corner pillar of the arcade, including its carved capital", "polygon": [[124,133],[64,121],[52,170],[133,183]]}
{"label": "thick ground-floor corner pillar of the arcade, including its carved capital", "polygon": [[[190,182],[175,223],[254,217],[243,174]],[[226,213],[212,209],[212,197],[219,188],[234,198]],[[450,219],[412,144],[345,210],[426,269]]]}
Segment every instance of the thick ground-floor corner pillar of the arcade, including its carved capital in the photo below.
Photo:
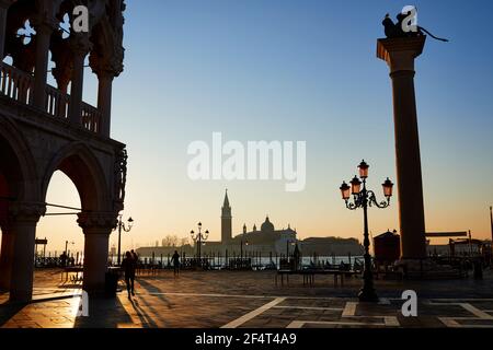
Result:
{"label": "thick ground-floor corner pillar of the arcade, including its carved capital", "polygon": [[115,213],[83,212],[78,223],[82,228],[84,242],[83,290],[90,295],[104,293],[108,262],[110,234],[116,228]]}

